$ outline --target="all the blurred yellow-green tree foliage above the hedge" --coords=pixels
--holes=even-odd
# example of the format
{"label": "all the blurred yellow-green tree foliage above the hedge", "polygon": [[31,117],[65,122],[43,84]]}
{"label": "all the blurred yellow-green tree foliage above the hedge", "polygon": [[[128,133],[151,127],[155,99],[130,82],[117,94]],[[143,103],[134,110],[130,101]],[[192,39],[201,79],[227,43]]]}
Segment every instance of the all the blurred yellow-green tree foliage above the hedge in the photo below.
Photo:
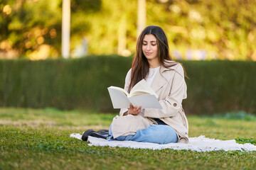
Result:
{"label": "all the blurred yellow-green tree foliage above the hedge", "polygon": [[[60,55],[61,0],[5,0],[0,10],[6,5],[11,13],[0,15],[0,40],[7,44],[1,50],[28,56],[44,44],[50,45],[50,57]],[[170,49],[178,50],[183,59],[188,49],[201,49],[208,59],[256,60],[255,6],[256,1],[247,0],[148,0],[146,25],[164,28]],[[136,28],[137,1],[71,1],[71,50],[86,37],[89,54],[117,54],[124,33],[126,48],[134,53]]]}

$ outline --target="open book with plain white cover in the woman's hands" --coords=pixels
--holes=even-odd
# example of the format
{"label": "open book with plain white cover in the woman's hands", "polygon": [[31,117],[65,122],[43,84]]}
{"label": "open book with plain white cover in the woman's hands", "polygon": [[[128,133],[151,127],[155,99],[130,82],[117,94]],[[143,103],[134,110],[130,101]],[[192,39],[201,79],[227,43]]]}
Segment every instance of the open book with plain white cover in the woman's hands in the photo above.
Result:
{"label": "open book with plain white cover in the woman's hands", "polygon": [[139,81],[128,94],[122,88],[110,86],[107,88],[114,108],[129,108],[130,103],[142,108],[160,108],[162,109],[158,96],[144,79]]}

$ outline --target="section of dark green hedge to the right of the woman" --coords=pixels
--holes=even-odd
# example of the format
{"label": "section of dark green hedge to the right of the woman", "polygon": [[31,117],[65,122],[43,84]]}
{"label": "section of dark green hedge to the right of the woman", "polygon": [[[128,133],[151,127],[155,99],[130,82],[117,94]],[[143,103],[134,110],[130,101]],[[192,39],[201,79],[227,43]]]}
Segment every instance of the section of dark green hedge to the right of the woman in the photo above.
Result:
{"label": "section of dark green hedge to the right of the woman", "polygon": [[255,62],[182,61],[188,77],[187,113],[255,113]]}

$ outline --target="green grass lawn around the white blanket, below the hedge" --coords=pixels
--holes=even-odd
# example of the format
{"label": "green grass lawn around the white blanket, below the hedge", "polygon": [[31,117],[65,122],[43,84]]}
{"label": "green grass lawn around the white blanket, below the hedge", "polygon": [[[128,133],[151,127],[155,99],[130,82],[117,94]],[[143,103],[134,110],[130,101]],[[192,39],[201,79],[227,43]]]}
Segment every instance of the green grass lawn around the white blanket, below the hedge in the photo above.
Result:
{"label": "green grass lawn around the white blanket, below the hedge", "polygon": [[[0,108],[0,169],[255,169],[256,152],[90,147],[70,138],[108,128],[113,114]],[[255,145],[255,120],[188,116],[189,136]]]}

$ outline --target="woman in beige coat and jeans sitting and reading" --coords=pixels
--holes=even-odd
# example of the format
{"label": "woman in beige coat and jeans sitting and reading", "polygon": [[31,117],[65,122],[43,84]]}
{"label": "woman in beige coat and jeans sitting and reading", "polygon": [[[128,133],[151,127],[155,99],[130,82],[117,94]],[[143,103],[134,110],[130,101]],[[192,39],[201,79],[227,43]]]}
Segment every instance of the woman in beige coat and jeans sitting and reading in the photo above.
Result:
{"label": "woman in beige coat and jeans sitting and reading", "polygon": [[[186,75],[186,74],[185,74]],[[181,64],[169,54],[169,44],[158,26],[146,27],[137,40],[137,52],[132,69],[125,78],[124,89],[130,91],[140,80],[146,82],[159,96],[163,109],[132,106],[120,110],[110,125],[110,140],[132,140],[167,144],[188,142],[188,120],[182,108],[186,98],[186,82]],[[85,131],[87,136],[97,132]]]}

